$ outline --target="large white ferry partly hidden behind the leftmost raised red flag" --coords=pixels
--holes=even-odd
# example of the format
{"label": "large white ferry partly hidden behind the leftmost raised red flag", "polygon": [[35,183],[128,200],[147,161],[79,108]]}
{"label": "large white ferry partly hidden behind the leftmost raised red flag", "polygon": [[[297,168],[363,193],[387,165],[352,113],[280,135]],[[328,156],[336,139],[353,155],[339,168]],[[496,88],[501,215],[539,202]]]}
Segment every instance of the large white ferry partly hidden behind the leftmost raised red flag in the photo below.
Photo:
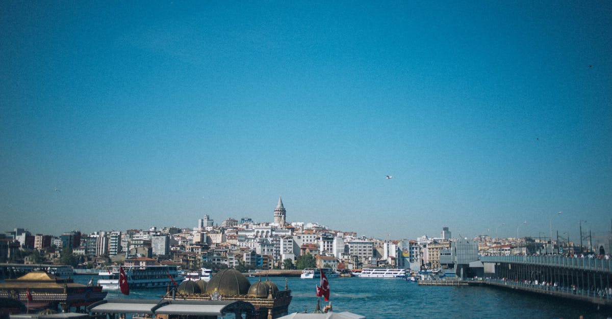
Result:
{"label": "large white ferry partly hidden behind the leftmost raised red flag", "polygon": [[[135,289],[166,287],[172,282],[170,276],[177,284],[185,279],[181,266],[123,266],[123,270],[130,288]],[[119,289],[119,266],[106,267],[98,276],[103,289]]]}

